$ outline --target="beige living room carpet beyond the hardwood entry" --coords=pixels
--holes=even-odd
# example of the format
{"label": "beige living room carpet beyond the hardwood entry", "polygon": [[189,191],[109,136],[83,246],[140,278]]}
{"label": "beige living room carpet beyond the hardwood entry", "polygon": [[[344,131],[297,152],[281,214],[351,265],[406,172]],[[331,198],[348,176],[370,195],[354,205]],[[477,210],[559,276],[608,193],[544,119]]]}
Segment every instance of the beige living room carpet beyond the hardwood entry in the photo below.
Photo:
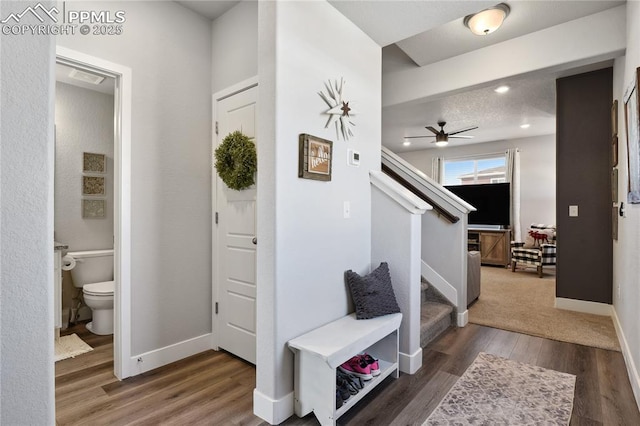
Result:
{"label": "beige living room carpet beyond the hardwood entry", "polygon": [[469,322],[531,336],[620,351],[613,321],[602,315],[557,309],[555,273],[483,266],[481,292]]}

